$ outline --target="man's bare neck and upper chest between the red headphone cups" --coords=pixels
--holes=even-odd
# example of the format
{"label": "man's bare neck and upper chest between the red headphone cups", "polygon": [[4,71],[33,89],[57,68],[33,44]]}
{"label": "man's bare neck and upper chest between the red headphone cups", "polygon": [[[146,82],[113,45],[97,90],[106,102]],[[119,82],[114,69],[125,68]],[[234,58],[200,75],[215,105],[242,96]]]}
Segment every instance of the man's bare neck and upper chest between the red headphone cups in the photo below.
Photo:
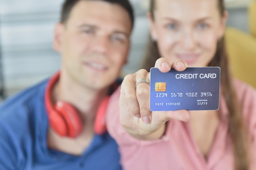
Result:
{"label": "man's bare neck and upper chest between the red headphone cups", "polygon": [[[52,89],[52,102],[64,101],[76,108],[82,122],[82,131],[75,139],[61,137],[49,128],[47,145],[72,155],[81,155],[94,136],[94,119],[109,88],[95,90],[60,76]],[[67,147],[69,146],[69,147]],[[69,148],[69,149],[67,149]]]}

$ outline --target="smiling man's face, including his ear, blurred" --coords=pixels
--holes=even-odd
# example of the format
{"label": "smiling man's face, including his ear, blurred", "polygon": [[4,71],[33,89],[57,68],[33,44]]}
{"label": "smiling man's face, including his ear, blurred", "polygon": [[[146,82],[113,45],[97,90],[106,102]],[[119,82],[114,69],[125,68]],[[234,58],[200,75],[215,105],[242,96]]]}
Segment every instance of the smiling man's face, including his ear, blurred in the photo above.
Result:
{"label": "smiling man's face, including his ear, blurred", "polygon": [[55,29],[55,49],[62,55],[62,74],[92,89],[106,88],[126,63],[131,21],[117,4],[81,0],[66,24]]}

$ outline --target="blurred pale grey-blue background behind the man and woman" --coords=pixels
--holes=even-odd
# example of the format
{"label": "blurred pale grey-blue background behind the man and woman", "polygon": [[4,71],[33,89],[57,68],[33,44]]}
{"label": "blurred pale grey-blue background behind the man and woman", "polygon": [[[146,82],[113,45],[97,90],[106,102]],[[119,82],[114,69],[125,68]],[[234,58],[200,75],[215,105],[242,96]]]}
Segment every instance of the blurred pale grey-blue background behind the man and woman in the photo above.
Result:
{"label": "blurred pale grey-blue background behind the man and woman", "polygon": [[[136,18],[124,74],[140,68],[149,33],[148,0],[130,2]],[[227,26],[250,34],[250,2],[252,0],[226,0]],[[0,100],[40,82],[59,69],[60,56],[52,49],[52,38],[62,3],[63,0],[0,0]]]}

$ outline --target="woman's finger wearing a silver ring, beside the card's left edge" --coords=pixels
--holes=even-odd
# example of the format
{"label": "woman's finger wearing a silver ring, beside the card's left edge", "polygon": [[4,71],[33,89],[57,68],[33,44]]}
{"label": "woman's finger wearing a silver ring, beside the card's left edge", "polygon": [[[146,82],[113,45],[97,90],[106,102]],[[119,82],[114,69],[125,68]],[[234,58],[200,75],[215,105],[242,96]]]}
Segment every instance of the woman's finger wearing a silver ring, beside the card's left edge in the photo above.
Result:
{"label": "woman's finger wearing a silver ring, beside the card's left edge", "polygon": [[[136,80],[144,78],[150,81],[150,74],[146,70],[141,70],[136,76]],[[139,112],[142,121],[148,124],[151,121],[151,111],[149,110],[149,91],[150,86],[146,82],[141,82],[137,85],[136,96],[139,103]]]}

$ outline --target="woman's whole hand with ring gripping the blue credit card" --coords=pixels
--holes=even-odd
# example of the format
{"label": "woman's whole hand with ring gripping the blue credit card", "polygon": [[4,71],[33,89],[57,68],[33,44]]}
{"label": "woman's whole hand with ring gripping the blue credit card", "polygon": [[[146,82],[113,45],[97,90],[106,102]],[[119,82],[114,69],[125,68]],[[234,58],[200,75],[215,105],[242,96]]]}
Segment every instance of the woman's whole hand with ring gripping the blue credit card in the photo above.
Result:
{"label": "woman's whole hand with ring gripping the blue credit card", "polygon": [[[187,65],[182,60],[171,62],[166,58],[159,58],[155,63],[155,68],[163,73],[170,69],[182,73]],[[119,122],[131,136],[144,140],[161,137],[165,131],[165,123],[170,119],[189,120],[187,110],[151,112],[148,82],[150,82],[150,72],[145,69],[126,75],[119,95]]]}

